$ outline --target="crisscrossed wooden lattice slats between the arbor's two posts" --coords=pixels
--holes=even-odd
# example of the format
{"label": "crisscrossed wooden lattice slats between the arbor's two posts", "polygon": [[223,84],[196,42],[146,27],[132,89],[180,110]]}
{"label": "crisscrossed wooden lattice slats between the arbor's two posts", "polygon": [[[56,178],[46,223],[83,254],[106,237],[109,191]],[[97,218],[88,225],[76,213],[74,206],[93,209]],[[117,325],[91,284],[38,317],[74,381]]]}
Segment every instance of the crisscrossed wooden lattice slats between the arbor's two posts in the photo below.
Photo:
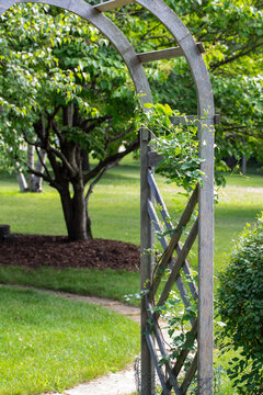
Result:
{"label": "crisscrossed wooden lattice slats between the arbor's two posts", "polygon": [[[150,171],[150,169],[148,170],[148,183],[150,185],[152,196],[159,206],[165,229],[170,232],[170,241],[168,241],[167,237],[163,234],[163,226],[160,223],[152,201],[148,199],[148,214],[151,219],[152,226],[158,234],[158,238],[164,252],[160,259],[160,262],[157,263],[156,270],[153,271],[152,284],[150,289],[151,292],[145,300],[148,318],[151,323],[151,337],[148,337],[147,345],[150,345],[149,350],[155,361],[155,365],[156,363],[158,363],[157,372],[159,379],[161,376],[160,383],[162,385],[162,394],[171,394],[171,391],[173,391],[175,395],[184,395],[186,394],[197,370],[197,352],[195,352],[192,363],[186,370],[186,373],[184,374],[185,361],[190,356],[190,350],[197,337],[197,319],[194,317],[191,319],[192,328],[186,332],[184,346],[182,347],[180,354],[178,356],[176,360],[173,362],[172,365],[165,348],[162,330],[159,326],[160,309],[155,309],[153,306],[157,305],[157,307],[161,308],[161,306],[167,302],[174,283],[176,283],[184,306],[188,307],[191,305],[190,297],[187,295],[187,291],[181,275],[182,270],[185,274],[193,300],[196,301],[198,297],[195,282],[191,275],[190,264],[186,260],[187,255],[198,234],[198,217],[195,219],[183,246],[181,247],[180,245],[180,238],[183,235],[183,230],[188,224],[197,204],[198,188],[196,188],[191,195],[186,207],[178,223],[178,226],[174,229],[171,217],[169,215],[164,201],[162,200],[162,196],[158,190],[153,173]],[[176,257],[174,257],[174,252],[176,252]],[[159,300],[156,301],[157,291],[159,289],[163,273],[168,267],[170,268],[170,274]],[[153,304],[151,304],[149,301],[152,301]],[[155,351],[155,340],[159,347],[160,359],[158,359],[158,354]],[[163,365],[165,368],[165,374],[163,370],[160,369],[160,361],[163,362]],[[183,380],[181,380],[182,375],[184,375]],[[165,379],[165,376],[168,376],[168,379]],[[179,376],[182,381],[181,386],[179,385]]]}

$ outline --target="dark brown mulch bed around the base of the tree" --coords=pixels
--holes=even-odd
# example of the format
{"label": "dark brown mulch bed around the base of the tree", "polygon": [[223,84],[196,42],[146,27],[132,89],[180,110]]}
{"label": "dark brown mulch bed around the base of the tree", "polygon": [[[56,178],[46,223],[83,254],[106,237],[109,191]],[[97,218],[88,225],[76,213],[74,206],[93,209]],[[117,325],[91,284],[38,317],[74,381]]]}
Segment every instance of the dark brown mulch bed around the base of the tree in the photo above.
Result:
{"label": "dark brown mulch bed around the base of the tree", "polygon": [[115,240],[69,242],[62,236],[12,235],[0,241],[0,266],[139,270],[139,247]]}

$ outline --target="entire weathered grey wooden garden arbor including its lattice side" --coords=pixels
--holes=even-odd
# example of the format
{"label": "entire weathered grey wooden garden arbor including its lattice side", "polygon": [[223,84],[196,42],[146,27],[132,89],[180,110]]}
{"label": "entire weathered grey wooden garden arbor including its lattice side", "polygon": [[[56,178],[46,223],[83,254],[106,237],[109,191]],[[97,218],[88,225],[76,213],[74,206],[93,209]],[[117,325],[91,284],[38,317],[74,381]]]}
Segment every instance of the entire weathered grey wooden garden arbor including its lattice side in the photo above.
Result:
{"label": "entire weathered grey wooden garden arbor including its lattice side", "polygon": [[[197,369],[197,387],[199,395],[213,394],[213,228],[214,228],[214,135],[211,133],[215,113],[214,99],[210,81],[206,66],[204,64],[201,44],[196,44],[181,20],[162,0],[111,0],[94,7],[84,0],[0,0],[0,14],[16,3],[46,3],[57,5],[61,9],[71,11],[82,16],[88,22],[96,26],[116,47],[127,65],[141,104],[151,102],[149,83],[144,71],[142,64],[184,56],[190,69],[197,93],[197,108],[199,120],[199,155],[204,159],[202,170],[204,171],[203,187],[196,188],[191,196],[185,211],[173,232],[170,242],[163,237],[161,239],[164,253],[161,259],[160,269],[165,269],[172,261],[172,270],[159,300],[156,300],[156,291],[160,284],[160,271],[152,279],[153,262],[149,253],[145,253],[153,246],[153,227],[160,228],[156,215],[153,202],[162,206],[161,213],[168,229],[172,228],[164,203],[158,191],[152,168],[152,155],[149,148],[149,133],[141,131],[140,157],[141,157],[141,289],[150,289],[151,298],[145,296],[141,303],[141,394],[153,395],[155,390],[155,369],[158,372],[162,394],[175,393],[176,395],[186,394],[188,386]],[[124,7],[136,2],[151,12],[160,22],[165,25],[179,46],[164,50],[157,50],[145,54],[137,54],[124,34],[104,15],[105,11]],[[142,93],[142,94],[141,94]],[[182,120],[178,120],[181,122]],[[191,229],[183,247],[179,240],[183,228],[190,221],[191,214],[198,204],[198,218]],[[191,278],[191,271],[186,261],[187,253],[198,235],[198,287]],[[175,255],[175,257],[174,257]],[[183,274],[184,273],[184,274]],[[186,275],[186,281],[183,276]],[[197,337],[197,352],[194,354],[190,369],[184,373],[184,361],[187,350],[183,350],[179,359],[171,364],[165,363],[165,373],[158,364],[157,347],[165,358],[165,347],[160,327],[158,315],[151,312],[155,303],[161,305],[169,296],[173,283],[176,283],[182,300],[187,304],[187,294],[194,300],[198,300],[198,318],[192,321],[190,334]],[[188,291],[187,291],[188,290]],[[147,330],[147,321],[151,319],[153,330]],[[179,380],[180,375],[180,380]],[[181,379],[182,376],[182,379]],[[182,383],[181,383],[182,382]],[[180,383],[180,384],[179,384]]]}

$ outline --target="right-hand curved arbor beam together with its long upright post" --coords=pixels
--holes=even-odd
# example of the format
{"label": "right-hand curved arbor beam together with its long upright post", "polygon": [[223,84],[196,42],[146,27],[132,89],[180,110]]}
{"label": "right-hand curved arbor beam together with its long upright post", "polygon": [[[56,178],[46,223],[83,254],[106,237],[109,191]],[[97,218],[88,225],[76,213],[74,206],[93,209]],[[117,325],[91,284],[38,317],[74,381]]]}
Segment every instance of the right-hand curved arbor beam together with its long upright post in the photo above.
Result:
{"label": "right-hand curved arbor beam together with its long upright post", "polygon": [[179,16],[162,0],[136,0],[171,32],[182,48],[195,80],[198,115],[204,117],[199,135],[201,169],[205,173],[198,192],[198,393],[213,393],[213,275],[214,275],[214,97],[202,54]]}

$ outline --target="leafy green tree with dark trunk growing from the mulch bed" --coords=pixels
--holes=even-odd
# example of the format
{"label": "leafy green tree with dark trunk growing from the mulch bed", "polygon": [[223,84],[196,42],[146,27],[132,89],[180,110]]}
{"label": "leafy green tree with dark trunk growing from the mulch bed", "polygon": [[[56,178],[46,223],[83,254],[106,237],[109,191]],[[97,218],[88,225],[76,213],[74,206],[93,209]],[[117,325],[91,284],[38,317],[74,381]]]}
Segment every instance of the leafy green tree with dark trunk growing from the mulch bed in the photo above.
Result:
{"label": "leafy green tree with dark trunk growing from the mulch bed", "polygon": [[[20,148],[34,147],[43,171],[28,171],[58,191],[70,240],[91,238],[94,185],[139,146],[127,70],[96,29],[56,8],[16,7],[0,27],[2,156],[26,166]],[[83,170],[85,153],[92,169]]]}

